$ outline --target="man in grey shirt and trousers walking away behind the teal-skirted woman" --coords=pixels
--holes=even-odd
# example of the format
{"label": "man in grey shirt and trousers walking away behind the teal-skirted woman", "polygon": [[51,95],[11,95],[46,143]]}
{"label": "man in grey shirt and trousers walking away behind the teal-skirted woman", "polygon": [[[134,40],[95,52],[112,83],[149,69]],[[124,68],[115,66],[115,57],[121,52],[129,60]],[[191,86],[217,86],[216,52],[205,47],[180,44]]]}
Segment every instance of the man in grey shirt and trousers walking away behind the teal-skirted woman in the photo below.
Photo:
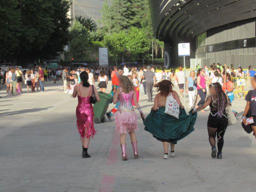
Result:
{"label": "man in grey shirt and trousers walking away behind the teal-skirted woman", "polygon": [[146,92],[148,97],[148,102],[152,102],[153,97],[153,85],[156,83],[156,77],[154,72],[150,70],[150,66],[146,67],[146,71],[144,72],[140,83],[145,79]]}

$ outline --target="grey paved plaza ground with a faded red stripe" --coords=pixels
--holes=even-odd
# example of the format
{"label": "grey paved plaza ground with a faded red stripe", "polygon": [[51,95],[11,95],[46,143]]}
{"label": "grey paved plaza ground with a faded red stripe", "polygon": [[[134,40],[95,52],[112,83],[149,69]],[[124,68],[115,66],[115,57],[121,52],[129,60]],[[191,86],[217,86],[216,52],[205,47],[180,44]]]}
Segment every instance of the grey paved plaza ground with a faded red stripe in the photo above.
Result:
{"label": "grey paved plaza ground with a faded red stripe", "polygon": [[[61,81],[45,82],[45,89],[19,96],[0,90],[0,192],[256,190],[256,140],[239,120],[226,130],[223,159],[210,157],[208,110],[198,112],[195,130],[178,141],[173,158],[162,158],[162,143],[143,129],[137,114],[140,158],[133,159],[127,137],[128,160],[121,160],[114,121],[107,121],[95,124],[91,158],[84,159],[76,130],[77,98],[63,93]],[[148,114],[152,103],[144,95],[139,103]],[[244,99],[232,104],[240,119]]]}

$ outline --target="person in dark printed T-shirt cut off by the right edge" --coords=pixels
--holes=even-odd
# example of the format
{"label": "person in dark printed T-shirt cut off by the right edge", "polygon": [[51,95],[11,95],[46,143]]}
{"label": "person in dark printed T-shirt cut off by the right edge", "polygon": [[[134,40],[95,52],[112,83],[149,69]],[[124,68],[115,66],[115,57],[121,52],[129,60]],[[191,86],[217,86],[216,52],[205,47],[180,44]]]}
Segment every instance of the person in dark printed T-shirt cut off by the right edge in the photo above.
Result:
{"label": "person in dark printed T-shirt cut off by the right edge", "polygon": [[[253,123],[250,124],[252,131],[253,131],[253,135],[256,138],[256,75],[254,75],[253,77],[250,78],[250,83],[251,83],[251,87],[252,90],[249,90],[245,100],[246,100],[246,105],[244,108],[244,112],[242,115],[242,123],[246,124],[246,118],[248,117],[252,117],[253,118]],[[248,114],[250,110],[250,116],[246,116]]]}

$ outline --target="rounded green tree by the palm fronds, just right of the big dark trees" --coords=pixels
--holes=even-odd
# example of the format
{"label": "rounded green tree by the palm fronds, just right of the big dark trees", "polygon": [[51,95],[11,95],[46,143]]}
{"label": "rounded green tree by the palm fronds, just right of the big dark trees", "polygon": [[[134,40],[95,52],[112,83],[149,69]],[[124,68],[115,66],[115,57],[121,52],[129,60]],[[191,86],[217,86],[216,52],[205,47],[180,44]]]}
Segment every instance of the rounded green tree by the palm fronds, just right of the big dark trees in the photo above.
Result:
{"label": "rounded green tree by the palm fronds, just right of the big dark trees", "polygon": [[69,49],[75,60],[86,60],[91,37],[88,30],[78,21],[74,22],[70,31]]}

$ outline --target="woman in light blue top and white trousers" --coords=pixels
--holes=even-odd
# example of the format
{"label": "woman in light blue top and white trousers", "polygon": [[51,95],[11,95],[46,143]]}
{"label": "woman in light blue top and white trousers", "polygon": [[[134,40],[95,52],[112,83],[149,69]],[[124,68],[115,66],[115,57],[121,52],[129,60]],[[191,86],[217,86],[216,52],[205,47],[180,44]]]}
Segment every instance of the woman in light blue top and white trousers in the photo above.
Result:
{"label": "woman in light blue top and white trousers", "polygon": [[196,81],[195,72],[192,70],[190,72],[189,77],[186,80],[186,91],[188,93],[189,108],[193,107],[193,100],[194,100],[195,90],[196,90],[195,81]]}

